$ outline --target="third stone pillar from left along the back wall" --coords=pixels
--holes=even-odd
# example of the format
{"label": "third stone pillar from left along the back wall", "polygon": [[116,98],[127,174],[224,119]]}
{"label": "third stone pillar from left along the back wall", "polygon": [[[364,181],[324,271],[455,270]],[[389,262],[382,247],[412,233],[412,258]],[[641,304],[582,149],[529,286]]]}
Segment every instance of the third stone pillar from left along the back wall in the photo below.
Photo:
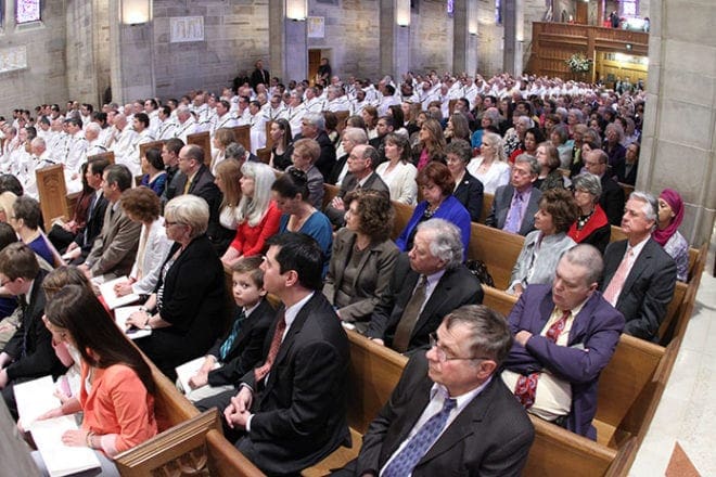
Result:
{"label": "third stone pillar from left along the back wall", "polygon": [[380,0],[380,72],[398,85],[410,69],[410,25],[398,26],[397,0]]}

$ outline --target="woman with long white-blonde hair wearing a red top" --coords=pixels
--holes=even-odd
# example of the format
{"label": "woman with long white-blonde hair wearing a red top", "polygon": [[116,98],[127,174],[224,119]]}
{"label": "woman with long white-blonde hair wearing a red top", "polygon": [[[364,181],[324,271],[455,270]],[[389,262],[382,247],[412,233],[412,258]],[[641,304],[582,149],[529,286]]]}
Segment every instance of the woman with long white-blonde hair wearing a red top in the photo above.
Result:
{"label": "woman with long white-blonde hair wearing a red top", "polygon": [[264,253],[266,241],[279,231],[281,211],[271,199],[273,170],[261,163],[245,163],[241,168],[241,202],[236,210],[236,234],[221,257],[232,267],[242,257]]}

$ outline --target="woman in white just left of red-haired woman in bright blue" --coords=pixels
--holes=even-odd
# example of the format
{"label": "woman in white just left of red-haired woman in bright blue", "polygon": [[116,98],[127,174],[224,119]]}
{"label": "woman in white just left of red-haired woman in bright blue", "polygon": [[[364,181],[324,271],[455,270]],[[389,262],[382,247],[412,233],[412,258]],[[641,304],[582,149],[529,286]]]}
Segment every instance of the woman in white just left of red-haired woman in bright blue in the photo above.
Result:
{"label": "woman in white just left of red-haired woman in bright blue", "polygon": [[388,160],[378,166],[375,172],[391,190],[393,201],[413,205],[418,197],[418,169],[410,163],[410,143],[404,136],[388,133],[385,137],[385,157]]}

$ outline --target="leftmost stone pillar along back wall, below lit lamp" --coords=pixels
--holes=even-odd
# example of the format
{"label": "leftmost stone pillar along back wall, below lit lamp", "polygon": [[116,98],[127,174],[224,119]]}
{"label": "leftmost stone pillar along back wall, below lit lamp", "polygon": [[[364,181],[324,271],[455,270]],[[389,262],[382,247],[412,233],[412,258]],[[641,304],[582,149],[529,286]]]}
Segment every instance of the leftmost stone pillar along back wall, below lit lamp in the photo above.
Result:
{"label": "leftmost stone pillar along back wall, below lit lamp", "polygon": [[122,2],[110,2],[112,100],[120,104],[155,92],[154,25],[123,24]]}

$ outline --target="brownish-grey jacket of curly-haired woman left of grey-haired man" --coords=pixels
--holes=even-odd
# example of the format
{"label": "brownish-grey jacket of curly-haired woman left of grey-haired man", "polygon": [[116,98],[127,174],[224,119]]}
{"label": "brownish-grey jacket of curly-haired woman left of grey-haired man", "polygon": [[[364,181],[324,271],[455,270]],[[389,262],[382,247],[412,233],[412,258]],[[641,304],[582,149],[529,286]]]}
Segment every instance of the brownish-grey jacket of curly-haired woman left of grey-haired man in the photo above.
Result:
{"label": "brownish-grey jacket of curly-haired woman left of grey-haired man", "polygon": [[[356,233],[341,229],[333,238],[333,253],[329,273],[323,285],[323,295],[332,305],[343,284],[343,274],[350,259]],[[341,308],[341,320],[368,321],[375,306],[391,291],[391,276],[400,252],[393,241],[373,243],[358,263],[358,274],[350,283],[353,289],[350,304]]]}

